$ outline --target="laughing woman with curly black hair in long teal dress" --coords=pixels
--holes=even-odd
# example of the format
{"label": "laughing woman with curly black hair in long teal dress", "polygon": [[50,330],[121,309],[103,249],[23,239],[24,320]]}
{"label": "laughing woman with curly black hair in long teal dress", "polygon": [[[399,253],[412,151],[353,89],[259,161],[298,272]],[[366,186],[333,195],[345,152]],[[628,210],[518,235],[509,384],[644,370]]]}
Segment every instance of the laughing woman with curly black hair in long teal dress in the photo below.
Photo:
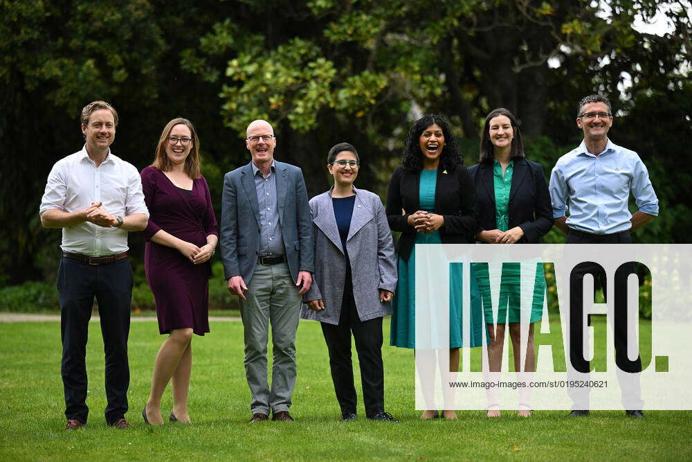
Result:
{"label": "laughing woman with curly black hair in long teal dress", "polygon": [[[408,132],[402,165],[394,169],[387,193],[390,228],[401,232],[397,242],[399,284],[390,328],[393,346],[416,348],[415,245],[473,242],[478,226],[475,204],[475,186],[459,156],[449,125],[434,114],[423,116]],[[462,293],[457,284],[462,273],[457,265],[451,267],[449,370],[456,372],[459,347],[481,346],[483,319],[480,299],[475,303],[472,300],[471,338],[464,341]],[[475,277],[471,277],[471,282],[475,284]],[[436,416],[437,411],[426,410],[421,418]],[[457,418],[453,409],[443,411],[443,416]]]}

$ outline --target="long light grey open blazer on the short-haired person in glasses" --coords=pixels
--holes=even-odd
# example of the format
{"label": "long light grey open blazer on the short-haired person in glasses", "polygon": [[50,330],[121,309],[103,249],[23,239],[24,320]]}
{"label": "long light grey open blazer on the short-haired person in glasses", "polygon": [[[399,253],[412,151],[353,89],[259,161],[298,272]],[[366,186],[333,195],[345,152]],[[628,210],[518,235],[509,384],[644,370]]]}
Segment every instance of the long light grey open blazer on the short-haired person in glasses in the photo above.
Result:
{"label": "long light grey open blazer on the short-haired person in glasses", "polygon": [[[361,321],[392,314],[392,303],[380,303],[379,289],[394,292],[397,264],[387,215],[378,195],[354,188],[356,199],[346,240],[356,310]],[[300,317],[338,324],[346,282],[346,258],[334,217],[331,190],[310,199],[315,235],[315,274],[303,301],[322,299],[325,309],[303,305]]]}

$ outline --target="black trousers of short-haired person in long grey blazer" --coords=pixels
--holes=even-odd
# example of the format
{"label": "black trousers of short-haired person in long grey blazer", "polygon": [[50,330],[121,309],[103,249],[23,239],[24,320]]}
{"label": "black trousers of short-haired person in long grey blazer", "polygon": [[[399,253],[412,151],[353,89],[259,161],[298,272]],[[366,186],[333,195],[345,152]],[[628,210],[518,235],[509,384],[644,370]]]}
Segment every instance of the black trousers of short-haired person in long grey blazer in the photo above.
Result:
{"label": "black trousers of short-haired person in long grey blazer", "polygon": [[361,364],[363,404],[365,415],[372,417],[384,411],[384,368],[382,364],[382,318],[361,321],[353,299],[353,289],[344,288],[338,326],[322,324],[322,333],[329,350],[331,380],[341,414],[356,414],[356,388],[351,361],[351,333],[356,341],[358,362]]}

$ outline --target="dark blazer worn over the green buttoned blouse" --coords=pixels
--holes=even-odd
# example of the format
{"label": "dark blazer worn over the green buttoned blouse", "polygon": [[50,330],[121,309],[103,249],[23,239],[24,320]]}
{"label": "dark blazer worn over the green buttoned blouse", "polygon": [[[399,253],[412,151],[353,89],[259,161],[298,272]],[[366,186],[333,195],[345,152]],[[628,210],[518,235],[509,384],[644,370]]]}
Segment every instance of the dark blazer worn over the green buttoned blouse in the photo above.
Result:
{"label": "dark blazer worn over the green buttoned blouse", "polygon": [[[495,183],[493,163],[477,163],[468,168],[473,178],[480,211],[480,228],[477,231],[497,229],[495,220]],[[509,190],[509,229],[520,226],[524,236],[518,241],[538,244],[553,226],[548,185],[540,163],[529,159],[516,159]]]}

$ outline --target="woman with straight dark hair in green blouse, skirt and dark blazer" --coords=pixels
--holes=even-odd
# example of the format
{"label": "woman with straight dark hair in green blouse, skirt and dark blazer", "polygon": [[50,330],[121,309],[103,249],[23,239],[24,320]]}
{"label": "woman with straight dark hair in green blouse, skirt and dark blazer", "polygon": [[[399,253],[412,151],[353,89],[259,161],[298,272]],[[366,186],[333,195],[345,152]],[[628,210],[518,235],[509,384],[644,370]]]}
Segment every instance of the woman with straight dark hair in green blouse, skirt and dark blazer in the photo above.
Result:
{"label": "woman with straight dark hair in green blouse, skirt and dark blazer", "polygon": [[[480,215],[480,229],[475,235],[477,241],[489,244],[538,244],[540,238],[550,231],[553,217],[543,167],[526,159],[516,118],[507,109],[494,109],[486,117],[480,142],[480,161],[469,168],[468,172],[475,182]],[[524,290],[533,290],[526,362],[523,368],[520,365],[519,263],[504,263],[502,267],[496,330],[493,328],[488,266],[475,263],[473,269],[491,338],[488,346],[490,371],[501,370],[505,325],[509,323],[514,368],[516,371],[533,372],[536,367],[534,323],[543,315],[545,294],[543,265],[538,264],[536,267],[533,287],[523,287]],[[520,402],[519,415],[531,415],[528,403]],[[488,416],[500,416],[499,406],[491,403]]]}

